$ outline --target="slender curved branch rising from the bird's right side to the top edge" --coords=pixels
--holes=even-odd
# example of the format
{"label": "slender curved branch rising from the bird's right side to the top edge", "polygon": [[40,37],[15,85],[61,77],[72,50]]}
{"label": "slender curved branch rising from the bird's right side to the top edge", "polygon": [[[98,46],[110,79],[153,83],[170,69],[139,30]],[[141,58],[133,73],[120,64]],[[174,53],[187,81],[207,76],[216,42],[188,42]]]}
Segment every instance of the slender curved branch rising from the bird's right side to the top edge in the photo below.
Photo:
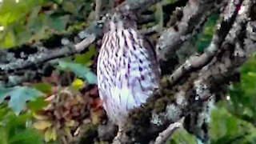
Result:
{"label": "slender curved branch rising from the bird's right side to the top edge", "polygon": [[206,64],[208,64],[212,60],[212,58],[214,58],[214,54],[217,53],[219,48],[222,46],[222,42],[224,42],[226,35],[229,34],[241,4],[241,0],[234,3],[229,3],[226,13],[222,15],[223,20],[219,24],[219,28],[216,34],[214,34],[210,46],[206,48],[205,53],[200,56],[192,56],[191,58],[186,60],[186,62],[182,66],[178,67],[178,69],[175,70],[169,78],[165,79],[165,83],[168,83],[169,86],[173,86],[175,82],[178,82],[178,80],[184,75],[189,74],[194,70],[198,70],[203,66],[206,66]]}

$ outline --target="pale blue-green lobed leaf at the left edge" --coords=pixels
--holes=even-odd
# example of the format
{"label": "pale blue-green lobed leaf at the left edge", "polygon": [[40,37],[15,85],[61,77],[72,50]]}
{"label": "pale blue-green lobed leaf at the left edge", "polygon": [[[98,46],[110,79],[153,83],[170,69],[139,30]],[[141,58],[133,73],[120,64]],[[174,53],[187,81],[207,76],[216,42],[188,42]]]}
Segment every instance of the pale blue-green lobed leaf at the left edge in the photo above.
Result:
{"label": "pale blue-green lobed leaf at the left edge", "polygon": [[26,102],[42,96],[42,93],[26,86],[0,88],[0,103],[2,103],[7,96],[10,96],[9,107],[14,110],[15,114],[20,114]]}

